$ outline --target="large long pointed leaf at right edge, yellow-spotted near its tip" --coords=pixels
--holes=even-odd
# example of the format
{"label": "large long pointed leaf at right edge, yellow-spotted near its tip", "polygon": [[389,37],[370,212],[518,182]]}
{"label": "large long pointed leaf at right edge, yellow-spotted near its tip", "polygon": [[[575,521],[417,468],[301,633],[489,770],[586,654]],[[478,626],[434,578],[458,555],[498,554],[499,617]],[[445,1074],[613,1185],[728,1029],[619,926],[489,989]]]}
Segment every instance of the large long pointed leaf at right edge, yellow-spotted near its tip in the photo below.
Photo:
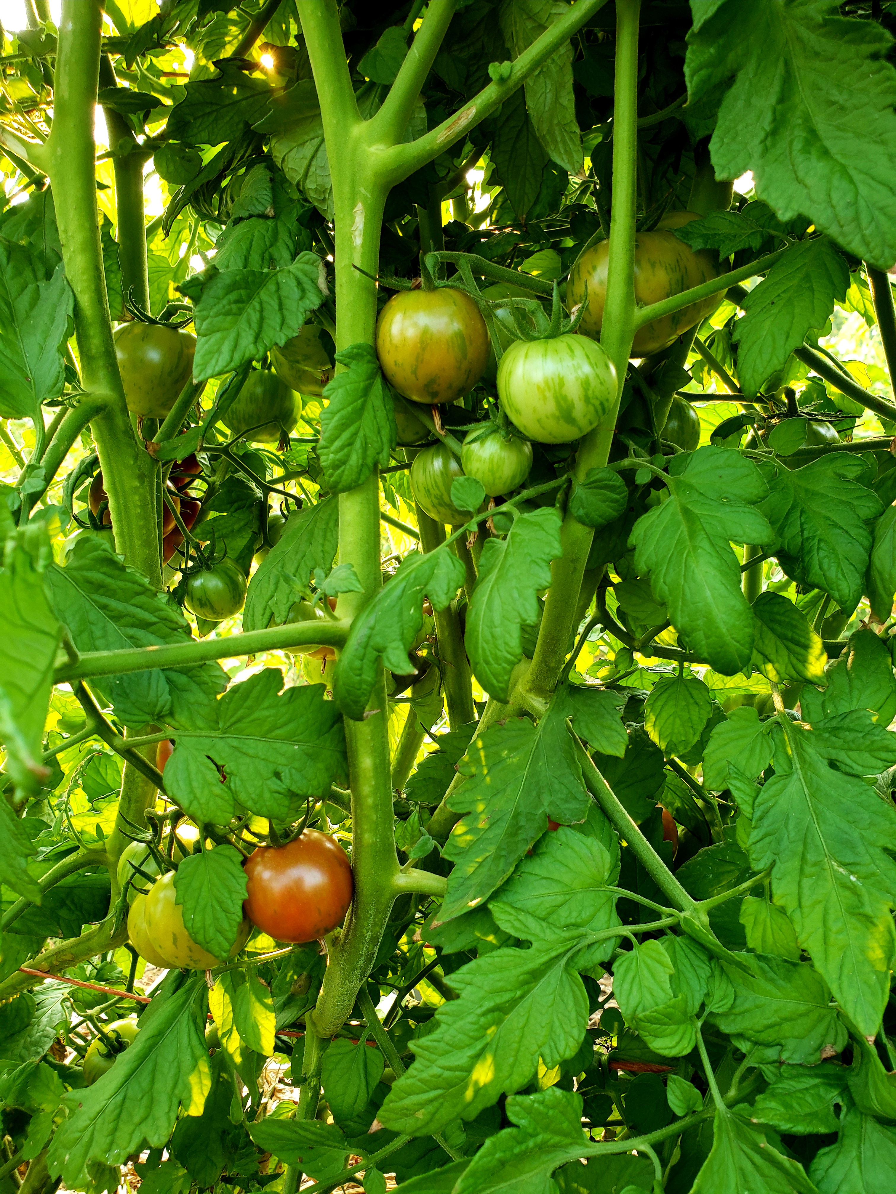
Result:
{"label": "large long pointed leaf at right edge, yellow-spotted near its tip", "polygon": [[[870,714],[865,720],[873,728]],[[783,718],[778,725],[775,774],[753,807],[750,863],[774,864],[774,901],[846,1014],[872,1035],[896,955],[896,866],[888,854],[896,850],[896,812],[863,780],[828,765],[823,732]],[[866,763],[874,774],[873,751]]]}

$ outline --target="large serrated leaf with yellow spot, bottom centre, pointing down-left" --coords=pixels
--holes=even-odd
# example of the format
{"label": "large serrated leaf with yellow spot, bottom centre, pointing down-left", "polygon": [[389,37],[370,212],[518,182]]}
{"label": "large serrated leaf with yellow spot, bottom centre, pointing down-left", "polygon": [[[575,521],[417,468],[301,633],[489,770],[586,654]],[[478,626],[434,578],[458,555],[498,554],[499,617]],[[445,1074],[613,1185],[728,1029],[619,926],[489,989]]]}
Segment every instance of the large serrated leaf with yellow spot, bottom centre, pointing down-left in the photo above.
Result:
{"label": "large serrated leaf with yellow spot, bottom centre, pointing down-left", "polygon": [[413,1135],[438,1132],[526,1087],[539,1057],[546,1066],[572,1057],[588,1020],[582,980],[567,968],[581,937],[556,931],[551,944],[497,949],[454,971],[459,998],[442,1004],[435,1032],[416,1042],[380,1120]]}

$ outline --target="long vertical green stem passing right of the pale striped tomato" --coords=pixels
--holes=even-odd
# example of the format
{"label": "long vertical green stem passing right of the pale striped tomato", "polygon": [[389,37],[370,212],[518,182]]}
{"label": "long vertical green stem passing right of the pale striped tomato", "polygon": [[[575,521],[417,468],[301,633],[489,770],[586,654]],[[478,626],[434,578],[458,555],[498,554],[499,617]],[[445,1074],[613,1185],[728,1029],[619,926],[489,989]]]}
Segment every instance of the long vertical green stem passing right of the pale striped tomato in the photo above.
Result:
{"label": "long vertical green stem passing right of the pale striped tomato", "polygon": [[[639,13],[640,0],[619,0],[616,4],[613,215],[609,230],[607,302],[601,344],[615,365],[618,393],[613,408],[579,445],[575,470],[578,480],[584,480],[589,469],[601,468],[607,463],[628,367],[628,353],[634,337]],[[584,527],[571,513],[566,513],[560,531],[563,555],[551,565],[551,589],[545,602],[535,654],[526,681],[528,693],[536,700],[546,700],[550,696],[563,667],[570,635],[575,629],[572,617],[577,608],[582,576],[593,540],[593,528]]]}

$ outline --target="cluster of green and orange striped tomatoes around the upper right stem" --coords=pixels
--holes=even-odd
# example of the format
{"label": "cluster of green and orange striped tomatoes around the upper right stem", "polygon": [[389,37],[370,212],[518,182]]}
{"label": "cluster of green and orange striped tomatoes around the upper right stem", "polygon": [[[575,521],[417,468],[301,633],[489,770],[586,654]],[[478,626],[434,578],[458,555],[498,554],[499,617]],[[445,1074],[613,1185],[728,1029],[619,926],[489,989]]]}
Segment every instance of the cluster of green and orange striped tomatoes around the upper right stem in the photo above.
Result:
{"label": "cluster of green and orange striped tomatoes around the upper right stem", "polygon": [[[639,304],[699,285],[716,277],[711,253],[694,252],[671,229],[699,216],[680,211],[653,232],[636,239],[634,287]],[[513,340],[497,367],[501,410],[513,427],[493,424],[468,432],[460,460],[444,444],[423,448],[411,467],[411,488],[419,507],[443,523],[460,523],[466,515],[450,500],[458,476],[478,480],[489,497],[517,488],[532,467],[532,443],[572,443],[591,431],[613,408],[618,377],[613,362],[597,343],[607,290],[608,244],[581,254],[570,275],[567,304],[584,313],[577,333],[545,339]],[[640,328],[634,356],[670,345],[682,332],[710,314],[717,295]],[[428,406],[454,402],[480,381],[491,345],[485,320],[473,298],[453,287],[410,290],[394,295],[376,326],[376,351],[392,387],[406,399]],[[397,412],[398,442],[422,443],[428,431],[406,411]],[[700,420],[693,406],[676,398],[662,430],[664,439],[692,450],[699,443]]]}

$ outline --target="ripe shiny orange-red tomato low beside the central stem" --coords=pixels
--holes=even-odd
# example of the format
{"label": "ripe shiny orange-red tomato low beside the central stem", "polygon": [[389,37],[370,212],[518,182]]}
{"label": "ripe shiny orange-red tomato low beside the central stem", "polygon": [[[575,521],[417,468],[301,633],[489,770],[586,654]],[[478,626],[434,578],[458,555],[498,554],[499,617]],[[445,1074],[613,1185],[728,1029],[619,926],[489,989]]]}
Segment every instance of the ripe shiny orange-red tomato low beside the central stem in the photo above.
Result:
{"label": "ripe shiny orange-red tomato low beside the central stem", "polygon": [[319,941],[349,910],[349,858],[335,837],[315,829],[287,845],[259,847],[245,870],[245,913],[276,941]]}

